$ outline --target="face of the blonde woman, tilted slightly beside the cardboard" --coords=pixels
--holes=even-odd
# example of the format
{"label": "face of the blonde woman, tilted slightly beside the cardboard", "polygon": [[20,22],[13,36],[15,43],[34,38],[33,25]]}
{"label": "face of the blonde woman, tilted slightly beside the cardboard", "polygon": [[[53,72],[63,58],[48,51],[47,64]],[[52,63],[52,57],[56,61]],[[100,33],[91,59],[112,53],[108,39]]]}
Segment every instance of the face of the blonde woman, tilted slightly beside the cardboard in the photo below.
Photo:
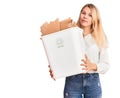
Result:
{"label": "face of the blonde woman, tilted slightly beside the cardboard", "polygon": [[91,27],[92,24],[92,13],[89,7],[83,8],[80,14],[80,24],[82,27]]}

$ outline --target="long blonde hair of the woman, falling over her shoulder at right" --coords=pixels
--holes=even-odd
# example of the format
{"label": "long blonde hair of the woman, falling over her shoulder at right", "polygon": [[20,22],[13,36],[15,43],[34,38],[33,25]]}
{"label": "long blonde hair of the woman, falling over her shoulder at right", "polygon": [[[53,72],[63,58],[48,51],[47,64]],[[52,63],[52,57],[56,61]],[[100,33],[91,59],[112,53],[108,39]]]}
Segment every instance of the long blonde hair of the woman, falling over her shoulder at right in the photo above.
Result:
{"label": "long blonde hair of the woman, falling over her shoulder at right", "polygon": [[[95,39],[95,41],[99,47],[107,47],[107,38],[106,38],[106,35],[105,35],[103,27],[102,27],[100,14],[99,14],[97,7],[93,4],[86,4],[81,9],[80,15],[81,15],[82,10],[85,7],[89,7],[91,10],[91,13],[92,13],[91,35],[93,36],[93,38]],[[77,25],[80,28],[82,28],[82,26],[80,24],[80,15],[79,15],[79,18],[77,21]]]}

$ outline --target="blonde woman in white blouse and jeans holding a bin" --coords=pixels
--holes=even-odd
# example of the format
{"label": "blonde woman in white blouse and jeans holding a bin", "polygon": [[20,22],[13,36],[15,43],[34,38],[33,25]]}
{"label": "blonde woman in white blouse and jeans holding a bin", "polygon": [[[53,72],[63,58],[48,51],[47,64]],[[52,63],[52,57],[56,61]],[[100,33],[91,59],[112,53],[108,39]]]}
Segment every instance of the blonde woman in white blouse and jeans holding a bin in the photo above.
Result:
{"label": "blonde woman in white blouse and jeans holding a bin", "polygon": [[[77,25],[83,29],[86,55],[80,66],[84,66],[86,73],[66,77],[64,98],[102,98],[99,74],[108,71],[109,60],[97,7],[93,4],[83,6]],[[53,77],[51,70],[50,74]]]}

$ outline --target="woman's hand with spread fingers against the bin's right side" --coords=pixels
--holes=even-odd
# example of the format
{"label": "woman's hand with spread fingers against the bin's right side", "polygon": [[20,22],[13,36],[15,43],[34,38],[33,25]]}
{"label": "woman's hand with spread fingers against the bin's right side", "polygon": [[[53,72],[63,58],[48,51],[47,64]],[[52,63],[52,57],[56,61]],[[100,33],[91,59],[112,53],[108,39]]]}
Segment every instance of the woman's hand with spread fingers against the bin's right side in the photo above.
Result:
{"label": "woman's hand with spread fingers against the bin's right side", "polygon": [[97,65],[90,62],[87,55],[85,55],[85,59],[82,59],[82,62],[83,64],[81,64],[81,66],[84,66],[82,70],[85,70],[85,72],[90,71],[90,70],[97,71]]}

